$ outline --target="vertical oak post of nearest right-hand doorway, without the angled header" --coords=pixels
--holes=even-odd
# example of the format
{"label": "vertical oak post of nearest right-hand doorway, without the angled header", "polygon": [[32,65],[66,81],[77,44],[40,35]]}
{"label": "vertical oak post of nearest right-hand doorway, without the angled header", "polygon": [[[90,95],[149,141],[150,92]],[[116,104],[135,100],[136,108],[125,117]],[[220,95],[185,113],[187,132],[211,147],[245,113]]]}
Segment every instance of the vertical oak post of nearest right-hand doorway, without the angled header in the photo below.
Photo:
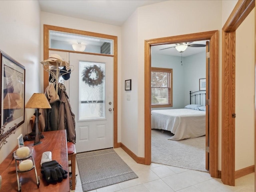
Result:
{"label": "vertical oak post of nearest right-hand doorway, without the angled header", "polygon": [[[222,145],[221,180],[224,184],[235,184],[235,33],[222,32]],[[233,83],[233,84],[232,84]],[[233,146],[233,148],[231,147]]]}

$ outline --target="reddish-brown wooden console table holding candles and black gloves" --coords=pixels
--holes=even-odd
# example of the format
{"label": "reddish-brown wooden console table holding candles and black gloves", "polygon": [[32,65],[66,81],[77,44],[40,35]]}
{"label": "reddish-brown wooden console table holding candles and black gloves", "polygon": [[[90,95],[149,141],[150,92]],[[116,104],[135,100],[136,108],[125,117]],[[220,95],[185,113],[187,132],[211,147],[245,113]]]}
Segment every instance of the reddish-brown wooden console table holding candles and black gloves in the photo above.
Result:
{"label": "reddish-brown wooden console table holding candles and black gloves", "polygon": [[[26,141],[24,143],[25,146],[33,148],[33,157],[36,164],[37,174],[38,176],[40,176],[40,185],[38,187],[36,184],[36,176],[34,170],[19,173],[21,191],[69,192],[69,176],[68,178],[63,179],[62,182],[48,184],[46,180],[43,178],[40,165],[42,153],[45,151],[51,151],[52,160],[56,160],[59,164],[62,165],[64,170],[68,171],[66,130],[48,131],[42,132],[42,134],[44,135],[44,139],[41,140],[42,144],[38,146],[32,146],[34,144],[34,141]],[[13,142],[17,141],[15,140]],[[14,148],[14,150],[12,150],[12,152],[7,156],[7,158],[0,164],[0,175],[2,176],[2,188],[0,192],[18,191],[15,160],[12,159],[12,154],[17,148]]]}

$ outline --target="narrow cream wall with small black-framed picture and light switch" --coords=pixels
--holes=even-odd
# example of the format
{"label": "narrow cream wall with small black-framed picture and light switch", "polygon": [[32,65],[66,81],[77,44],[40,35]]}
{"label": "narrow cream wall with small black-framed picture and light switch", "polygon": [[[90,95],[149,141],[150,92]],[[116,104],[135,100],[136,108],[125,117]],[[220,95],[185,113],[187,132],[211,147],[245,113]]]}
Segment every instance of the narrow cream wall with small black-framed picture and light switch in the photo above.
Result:
{"label": "narrow cream wall with small black-framed picture and light switch", "polygon": [[[122,144],[138,154],[138,12],[122,26]],[[124,90],[124,81],[132,80],[132,90]],[[130,94],[130,100],[126,100]],[[144,138],[141,138],[144,140]]]}

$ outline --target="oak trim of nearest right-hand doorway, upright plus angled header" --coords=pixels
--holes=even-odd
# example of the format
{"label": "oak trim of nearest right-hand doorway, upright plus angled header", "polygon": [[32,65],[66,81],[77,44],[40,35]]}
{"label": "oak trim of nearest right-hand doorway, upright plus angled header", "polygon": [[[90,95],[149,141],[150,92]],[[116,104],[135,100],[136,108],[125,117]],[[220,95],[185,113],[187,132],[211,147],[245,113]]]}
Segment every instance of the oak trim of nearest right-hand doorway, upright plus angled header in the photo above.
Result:
{"label": "oak trim of nearest right-hand doorway, upright plus angled header", "polygon": [[[238,0],[222,28],[221,180],[223,184],[232,186],[235,185],[235,119],[231,114],[235,113],[236,29],[254,7],[255,0]],[[256,123],[254,126],[256,127]]]}

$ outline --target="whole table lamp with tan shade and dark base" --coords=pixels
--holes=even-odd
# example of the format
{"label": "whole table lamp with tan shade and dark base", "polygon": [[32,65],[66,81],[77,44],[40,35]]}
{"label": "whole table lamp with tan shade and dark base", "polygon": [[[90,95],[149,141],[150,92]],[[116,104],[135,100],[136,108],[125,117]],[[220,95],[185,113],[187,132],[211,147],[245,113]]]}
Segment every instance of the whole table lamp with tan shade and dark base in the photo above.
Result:
{"label": "whole table lamp with tan shade and dark base", "polygon": [[41,114],[39,112],[39,109],[50,109],[52,108],[50,103],[48,102],[46,96],[44,93],[34,93],[31,98],[28,100],[25,108],[35,108],[36,112],[34,113],[35,122],[34,122],[34,128],[33,131],[35,131],[35,141],[34,141],[34,146],[39,145],[42,143],[39,138],[39,131],[38,131],[38,116]]}

